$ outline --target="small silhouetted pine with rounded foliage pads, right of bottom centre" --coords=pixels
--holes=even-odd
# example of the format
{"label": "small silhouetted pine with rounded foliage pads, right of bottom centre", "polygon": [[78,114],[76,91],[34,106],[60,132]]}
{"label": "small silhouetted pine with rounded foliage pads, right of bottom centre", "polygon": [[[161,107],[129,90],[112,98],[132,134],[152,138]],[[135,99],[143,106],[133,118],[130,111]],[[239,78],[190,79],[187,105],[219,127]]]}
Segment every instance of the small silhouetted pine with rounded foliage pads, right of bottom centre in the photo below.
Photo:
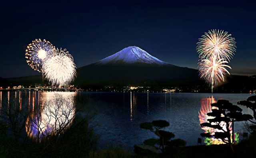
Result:
{"label": "small silhouetted pine with rounded foliage pads, right of bottom centre", "polygon": [[[140,124],[140,128],[150,130],[151,132],[154,132],[157,136],[159,136],[159,139],[150,138],[147,140],[144,140],[144,144],[154,146],[160,145],[158,149],[160,149],[164,153],[164,147],[173,147],[173,146],[185,146],[186,142],[182,139],[175,139],[171,140],[171,138],[174,138],[174,134],[172,132],[168,132],[165,130],[161,130],[162,128],[170,126],[169,122],[166,120],[154,120],[152,122],[144,122]],[[157,147],[156,147],[157,148]]]}

